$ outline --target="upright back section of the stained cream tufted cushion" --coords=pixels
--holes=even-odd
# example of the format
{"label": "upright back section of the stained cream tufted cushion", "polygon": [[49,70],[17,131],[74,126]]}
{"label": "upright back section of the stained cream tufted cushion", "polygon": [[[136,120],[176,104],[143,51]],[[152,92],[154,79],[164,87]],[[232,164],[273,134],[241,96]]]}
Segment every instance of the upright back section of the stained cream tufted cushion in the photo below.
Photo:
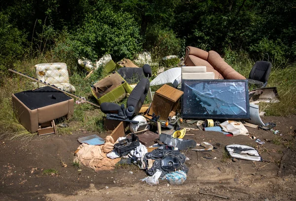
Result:
{"label": "upright back section of the stained cream tufted cushion", "polygon": [[[65,63],[37,64],[35,68],[38,80],[50,84],[69,83],[69,74]],[[41,83],[38,83],[38,85],[39,87],[43,86]]]}

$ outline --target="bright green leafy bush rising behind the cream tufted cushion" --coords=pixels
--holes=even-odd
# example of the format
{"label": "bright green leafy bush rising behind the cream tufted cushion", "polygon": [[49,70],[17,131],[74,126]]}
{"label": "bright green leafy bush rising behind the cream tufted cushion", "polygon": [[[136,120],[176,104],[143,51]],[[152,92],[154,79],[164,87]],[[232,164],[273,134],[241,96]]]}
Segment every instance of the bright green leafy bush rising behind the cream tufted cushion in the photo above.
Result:
{"label": "bright green leafy bush rising behind the cream tufted cushion", "polygon": [[138,24],[133,17],[121,10],[99,1],[93,10],[86,14],[83,24],[67,37],[59,49],[78,58],[81,56],[92,60],[105,53],[111,53],[115,60],[131,58],[142,49],[142,38]]}

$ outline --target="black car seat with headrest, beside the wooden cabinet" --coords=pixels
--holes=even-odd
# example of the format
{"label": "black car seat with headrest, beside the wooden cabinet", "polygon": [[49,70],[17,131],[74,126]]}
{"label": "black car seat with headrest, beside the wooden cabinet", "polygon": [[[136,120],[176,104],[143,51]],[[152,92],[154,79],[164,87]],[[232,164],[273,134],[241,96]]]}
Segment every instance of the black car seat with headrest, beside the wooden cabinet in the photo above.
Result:
{"label": "black car seat with headrest, beside the wooden cabinet", "polygon": [[138,121],[132,121],[131,119],[134,114],[139,113],[145,101],[150,87],[148,78],[152,76],[151,67],[148,64],[143,66],[143,71],[146,78],[140,80],[132,90],[127,98],[127,108],[124,107],[124,104],[121,106],[110,102],[101,104],[101,111],[107,114],[107,119],[138,123]]}

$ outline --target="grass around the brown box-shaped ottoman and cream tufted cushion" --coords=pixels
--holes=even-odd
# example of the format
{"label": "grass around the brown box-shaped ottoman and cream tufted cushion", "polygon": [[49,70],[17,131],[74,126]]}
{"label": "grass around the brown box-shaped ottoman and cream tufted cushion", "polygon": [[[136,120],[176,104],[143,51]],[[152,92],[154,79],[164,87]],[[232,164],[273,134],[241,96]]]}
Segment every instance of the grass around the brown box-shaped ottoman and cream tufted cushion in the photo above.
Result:
{"label": "grass around the brown box-shaped ottoman and cream tufted cushion", "polygon": [[[14,69],[29,76],[36,77],[35,65],[39,63],[65,62],[54,55],[53,51],[47,51],[45,54],[38,54],[36,58],[25,59],[14,63]],[[86,73],[79,69],[77,61],[68,60],[67,66],[70,71],[70,82],[75,86],[76,95],[86,97],[86,99],[96,103],[90,91],[90,85],[96,80],[100,80],[104,75],[99,72],[94,73],[89,79],[85,79]],[[0,81],[0,139],[31,139],[36,134],[28,132],[15,118],[12,108],[11,95],[24,90],[36,88],[36,85],[27,78],[4,72]],[[102,113],[95,106],[87,103],[74,104],[74,117],[66,121],[70,126],[67,128],[58,128],[59,134],[71,134],[75,130],[89,130],[103,132]]]}

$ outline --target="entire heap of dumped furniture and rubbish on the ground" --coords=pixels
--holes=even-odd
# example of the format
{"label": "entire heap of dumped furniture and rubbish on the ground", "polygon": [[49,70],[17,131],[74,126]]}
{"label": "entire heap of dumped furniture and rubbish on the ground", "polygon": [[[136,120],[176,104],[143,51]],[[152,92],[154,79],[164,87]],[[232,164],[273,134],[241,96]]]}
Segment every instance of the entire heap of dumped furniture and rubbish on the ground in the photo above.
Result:
{"label": "entire heap of dumped furniture and rubbish on the ground", "polygon": [[[182,184],[188,172],[182,151],[213,149],[207,142],[195,149],[199,146],[186,139],[186,131],[200,129],[236,136],[248,135],[248,126],[275,126],[261,121],[256,105],[260,101],[279,101],[276,88],[266,87],[269,62],[256,62],[246,79],[217,52],[188,46],[182,67],[170,68],[153,80],[148,64],[141,68],[127,59],[115,63],[110,55],[96,64],[87,59],[78,63],[90,73],[103,68],[108,74],[90,88],[106,114],[104,127],[111,134],[105,139],[98,135],[79,138],[81,145],[74,159],[95,171],[113,169],[117,163],[134,163],[147,172],[143,181],[150,185],[157,184],[158,178]],[[36,72],[39,83],[47,86],[13,94],[13,107],[30,132],[54,133],[55,119],[73,116],[74,99],[65,93],[69,95],[75,88],[69,83],[65,63],[38,64]],[[259,88],[249,91],[250,83]],[[151,92],[150,87],[157,85],[158,89]],[[117,104],[125,98],[126,105]],[[182,127],[183,121],[196,123],[197,127]],[[252,147],[228,145],[225,149],[234,158],[262,161]]]}

